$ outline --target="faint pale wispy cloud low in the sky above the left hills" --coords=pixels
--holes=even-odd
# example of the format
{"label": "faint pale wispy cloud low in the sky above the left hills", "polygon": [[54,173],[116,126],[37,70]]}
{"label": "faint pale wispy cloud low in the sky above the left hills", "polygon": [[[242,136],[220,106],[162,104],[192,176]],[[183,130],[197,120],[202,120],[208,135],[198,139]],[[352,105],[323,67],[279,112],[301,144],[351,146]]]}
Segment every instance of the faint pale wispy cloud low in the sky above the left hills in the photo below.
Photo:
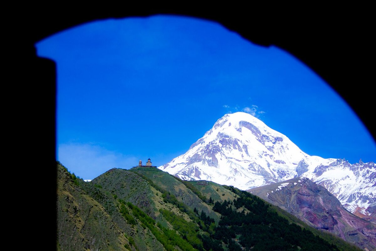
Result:
{"label": "faint pale wispy cloud low in the sky above the left hills", "polygon": [[58,160],[80,178],[89,180],[113,167],[128,169],[138,164],[134,156],[109,151],[98,145],[77,143],[59,145]]}

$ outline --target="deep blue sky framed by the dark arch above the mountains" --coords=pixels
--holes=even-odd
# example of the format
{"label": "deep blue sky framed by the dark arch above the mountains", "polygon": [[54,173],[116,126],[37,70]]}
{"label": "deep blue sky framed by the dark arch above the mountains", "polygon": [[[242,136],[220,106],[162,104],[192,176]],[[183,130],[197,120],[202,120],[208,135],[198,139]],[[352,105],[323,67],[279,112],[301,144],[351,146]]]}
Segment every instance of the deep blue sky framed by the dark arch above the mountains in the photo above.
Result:
{"label": "deep blue sky framed by the dark arch above the mountains", "polygon": [[306,65],[218,23],[156,15],[102,20],[36,44],[57,63],[57,155],[93,179],[185,153],[226,113],[245,111],[309,155],[376,161],[356,114]]}

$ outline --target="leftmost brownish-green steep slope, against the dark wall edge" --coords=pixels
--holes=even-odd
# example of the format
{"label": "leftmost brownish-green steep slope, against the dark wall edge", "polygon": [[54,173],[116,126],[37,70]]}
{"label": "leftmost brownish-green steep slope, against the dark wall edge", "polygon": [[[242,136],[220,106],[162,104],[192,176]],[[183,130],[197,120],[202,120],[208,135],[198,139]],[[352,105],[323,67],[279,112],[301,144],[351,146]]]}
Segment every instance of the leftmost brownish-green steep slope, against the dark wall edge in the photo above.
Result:
{"label": "leftmost brownish-green steep slope, against the dark wall edge", "polygon": [[128,250],[128,240],[105,208],[58,165],[58,250]]}

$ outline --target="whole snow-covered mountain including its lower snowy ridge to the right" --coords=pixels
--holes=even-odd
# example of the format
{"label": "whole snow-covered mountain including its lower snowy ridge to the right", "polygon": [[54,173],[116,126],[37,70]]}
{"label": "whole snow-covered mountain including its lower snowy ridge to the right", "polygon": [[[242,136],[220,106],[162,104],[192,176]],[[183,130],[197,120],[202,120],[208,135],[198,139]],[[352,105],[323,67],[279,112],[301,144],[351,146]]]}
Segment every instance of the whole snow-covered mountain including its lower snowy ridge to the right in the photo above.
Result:
{"label": "whole snow-covered mountain including its lower snowy ridge to the right", "polygon": [[247,113],[226,114],[183,155],[158,167],[183,180],[209,180],[243,190],[310,178],[332,192],[348,210],[362,213],[376,202],[375,164],[350,164],[310,156],[280,132]]}

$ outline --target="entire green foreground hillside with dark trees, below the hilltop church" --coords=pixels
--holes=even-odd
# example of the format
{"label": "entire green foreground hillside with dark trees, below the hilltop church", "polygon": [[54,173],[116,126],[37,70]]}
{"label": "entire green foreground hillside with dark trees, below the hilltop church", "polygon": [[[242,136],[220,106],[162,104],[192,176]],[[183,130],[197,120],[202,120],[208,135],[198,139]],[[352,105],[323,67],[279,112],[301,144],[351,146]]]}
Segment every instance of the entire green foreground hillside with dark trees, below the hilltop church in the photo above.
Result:
{"label": "entire green foreground hillside with dark trees, below the hilltop church", "polygon": [[58,250],[359,250],[233,187],[146,167],[86,183],[57,167]]}

